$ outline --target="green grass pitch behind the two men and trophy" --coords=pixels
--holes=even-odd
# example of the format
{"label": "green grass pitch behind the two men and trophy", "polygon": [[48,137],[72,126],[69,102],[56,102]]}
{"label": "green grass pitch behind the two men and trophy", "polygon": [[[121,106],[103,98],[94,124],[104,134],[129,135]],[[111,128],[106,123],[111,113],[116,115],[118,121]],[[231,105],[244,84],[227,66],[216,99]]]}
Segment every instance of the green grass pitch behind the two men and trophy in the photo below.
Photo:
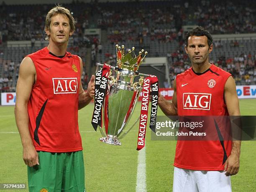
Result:
{"label": "green grass pitch behind the two men and trophy", "polygon": [[[138,103],[131,122],[140,113]],[[15,125],[13,106],[0,107],[0,183],[27,183],[27,167],[22,159],[22,146]],[[242,115],[256,115],[256,99],[240,100]],[[100,142],[101,134],[90,123],[93,104],[79,111],[79,129],[84,147],[87,192],[134,192],[138,152],[138,123],[122,140],[122,146]],[[158,115],[163,115],[159,110]],[[13,133],[10,133],[13,132]],[[151,141],[146,136],[146,184],[148,192],[172,191],[173,161],[176,141]],[[256,141],[243,141],[240,170],[232,176],[233,192],[256,190]],[[28,191],[8,190],[8,191]]]}

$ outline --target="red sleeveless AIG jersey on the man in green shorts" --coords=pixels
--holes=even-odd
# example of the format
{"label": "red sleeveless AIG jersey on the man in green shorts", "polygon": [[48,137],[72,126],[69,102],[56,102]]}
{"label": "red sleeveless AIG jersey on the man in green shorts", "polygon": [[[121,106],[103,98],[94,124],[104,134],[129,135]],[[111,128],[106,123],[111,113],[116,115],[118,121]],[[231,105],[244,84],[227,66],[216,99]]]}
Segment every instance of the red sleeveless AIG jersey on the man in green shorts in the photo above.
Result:
{"label": "red sleeveless AIG jersey on the man in green shorts", "polygon": [[28,57],[36,68],[36,83],[28,101],[29,131],[36,150],[82,150],[78,129],[78,56],[67,52],[59,58],[45,47]]}

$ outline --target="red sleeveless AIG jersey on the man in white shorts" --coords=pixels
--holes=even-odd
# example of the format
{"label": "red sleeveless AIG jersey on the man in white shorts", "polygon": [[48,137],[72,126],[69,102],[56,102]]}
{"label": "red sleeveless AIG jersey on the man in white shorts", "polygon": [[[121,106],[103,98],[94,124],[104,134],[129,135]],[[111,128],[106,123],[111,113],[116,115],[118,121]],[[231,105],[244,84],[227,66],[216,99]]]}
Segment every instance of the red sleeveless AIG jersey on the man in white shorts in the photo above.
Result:
{"label": "red sleeveless AIG jersey on the man in white shorts", "polygon": [[[228,116],[224,86],[231,74],[212,64],[204,73],[191,68],[177,75],[177,107],[179,116]],[[212,123],[214,125],[214,123]],[[219,124],[218,129],[225,129]],[[209,129],[209,128],[208,128]],[[216,128],[210,127],[212,131]],[[192,170],[223,170],[232,142],[177,141],[174,166]]]}

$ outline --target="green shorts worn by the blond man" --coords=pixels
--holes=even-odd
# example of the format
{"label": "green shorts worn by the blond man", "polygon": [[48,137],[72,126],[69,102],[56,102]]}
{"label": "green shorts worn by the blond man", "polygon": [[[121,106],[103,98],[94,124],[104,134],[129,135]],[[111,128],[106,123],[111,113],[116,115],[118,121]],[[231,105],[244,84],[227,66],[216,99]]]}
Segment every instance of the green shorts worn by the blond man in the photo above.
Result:
{"label": "green shorts worn by the blond man", "polygon": [[28,167],[30,192],[85,192],[83,152],[38,152],[39,164]]}

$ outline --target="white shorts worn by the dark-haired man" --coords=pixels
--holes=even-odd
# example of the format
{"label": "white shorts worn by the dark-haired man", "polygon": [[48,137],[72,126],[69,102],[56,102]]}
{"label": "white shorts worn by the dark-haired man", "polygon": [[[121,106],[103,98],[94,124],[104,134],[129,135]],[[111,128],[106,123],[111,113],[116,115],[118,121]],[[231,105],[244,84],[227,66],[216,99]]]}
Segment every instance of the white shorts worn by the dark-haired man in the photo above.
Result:
{"label": "white shorts worn by the dark-haired man", "polygon": [[224,171],[195,171],[174,167],[173,192],[231,192]]}

